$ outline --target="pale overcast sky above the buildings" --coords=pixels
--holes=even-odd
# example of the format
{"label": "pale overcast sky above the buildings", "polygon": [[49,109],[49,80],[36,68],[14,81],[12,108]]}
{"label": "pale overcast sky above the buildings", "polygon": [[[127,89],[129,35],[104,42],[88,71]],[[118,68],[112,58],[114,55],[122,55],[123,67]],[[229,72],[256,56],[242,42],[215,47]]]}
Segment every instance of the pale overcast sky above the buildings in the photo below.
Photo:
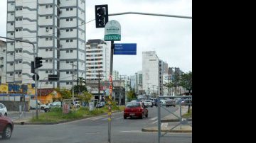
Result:
{"label": "pale overcast sky above the buildings", "polygon": [[[0,35],[6,36],[6,1],[0,0]],[[95,5],[107,4],[108,13],[142,12],[192,16],[192,0],[86,0],[86,22],[95,19]],[[156,51],[169,67],[192,71],[192,19],[162,16],[119,15],[121,41],[137,43],[137,55],[114,55],[114,70],[134,75],[142,70],[142,52]],[[95,21],[86,24],[86,40],[104,40],[104,28],[95,28]]]}

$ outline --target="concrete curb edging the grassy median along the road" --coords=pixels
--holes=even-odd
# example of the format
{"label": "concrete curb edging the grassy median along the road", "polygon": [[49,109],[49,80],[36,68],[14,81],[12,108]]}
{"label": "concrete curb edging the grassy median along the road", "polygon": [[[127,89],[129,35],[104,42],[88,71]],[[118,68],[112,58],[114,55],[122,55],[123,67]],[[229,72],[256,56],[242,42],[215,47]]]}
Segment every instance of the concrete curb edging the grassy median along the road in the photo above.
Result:
{"label": "concrete curb edging the grassy median along the road", "polygon": [[[112,113],[121,113],[122,111],[114,111]],[[64,122],[73,122],[75,120],[83,120],[86,118],[92,118],[92,117],[97,117],[100,115],[107,115],[107,113],[102,113],[99,115],[90,115],[90,116],[86,116],[84,118],[80,118],[80,119],[71,119],[71,120],[60,120],[58,122],[28,122],[28,120],[21,120],[21,121],[14,121],[14,125],[55,125],[55,124],[60,124],[60,123],[64,123]]]}

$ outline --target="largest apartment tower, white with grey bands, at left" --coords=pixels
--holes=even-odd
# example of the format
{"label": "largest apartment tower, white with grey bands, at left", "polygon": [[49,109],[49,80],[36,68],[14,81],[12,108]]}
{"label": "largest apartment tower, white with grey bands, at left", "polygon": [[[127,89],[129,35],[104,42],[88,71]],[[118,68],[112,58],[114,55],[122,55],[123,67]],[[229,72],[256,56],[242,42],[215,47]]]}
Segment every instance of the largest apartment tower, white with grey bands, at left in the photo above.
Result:
{"label": "largest apartment tower, white with grey bands, at left", "polygon": [[[85,78],[85,0],[8,0],[6,30],[8,38],[33,42],[43,57],[39,88],[71,88],[73,78]],[[7,40],[6,81],[33,83],[31,61],[31,44]]]}

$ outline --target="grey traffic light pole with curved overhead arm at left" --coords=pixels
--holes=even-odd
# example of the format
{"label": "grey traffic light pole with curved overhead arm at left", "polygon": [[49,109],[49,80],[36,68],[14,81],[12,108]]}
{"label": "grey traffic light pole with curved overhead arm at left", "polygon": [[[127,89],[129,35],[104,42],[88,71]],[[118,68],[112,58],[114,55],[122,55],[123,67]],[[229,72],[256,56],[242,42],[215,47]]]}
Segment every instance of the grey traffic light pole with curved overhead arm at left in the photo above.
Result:
{"label": "grey traffic light pole with curved overhead arm at left", "polygon": [[[18,40],[18,39],[13,39],[13,38],[6,38],[6,37],[2,37],[0,36],[0,38],[4,38],[4,39],[8,39],[8,40],[14,40],[14,41],[19,41],[19,42],[26,42],[28,44],[33,45],[33,59],[36,58],[36,49],[35,49],[35,45],[33,44],[33,42],[29,42],[29,41],[24,41],[24,40]],[[36,62],[34,62],[34,67],[36,67]],[[38,69],[35,69],[36,74],[38,74]],[[38,100],[37,100],[37,78],[35,78],[35,96],[36,96],[36,119],[38,119]]]}

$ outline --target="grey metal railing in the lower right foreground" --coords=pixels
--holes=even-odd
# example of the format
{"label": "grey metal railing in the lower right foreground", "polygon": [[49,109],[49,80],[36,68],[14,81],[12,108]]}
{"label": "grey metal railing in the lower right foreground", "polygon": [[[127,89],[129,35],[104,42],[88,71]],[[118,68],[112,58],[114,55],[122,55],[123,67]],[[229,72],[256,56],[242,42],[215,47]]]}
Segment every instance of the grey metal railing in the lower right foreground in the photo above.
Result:
{"label": "grey metal railing in the lower right foreground", "polygon": [[[176,115],[174,112],[172,112],[171,110],[165,108],[162,104],[161,104],[161,99],[163,98],[188,98],[188,103],[179,103],[179,116]],[[182,105],[192,105],[192,96],[159,96],[157,98],[157,105],[158,105],[158,143],[160,143],[160,138],[161,137],[171,137],[171,136],[165,136],[167,134],[168,131],[166,131],[163,135],[161,134],[161,108],[164,108],[165,110],[167,110],[169,113],[171,113],[172,115],[174,115],[176,118],[178,118],[179,123],[177,125],[175,125],[174,127],[171,128],[171,130],[174,130],[174,128],[178,127],[178,125],[180,125],[180,129],[181,129],[181,125],[190,125],[188,124],[188,120],[185,119],[183,120],[182,118],[182,113],[181,113],[181,106]],[[175,104],[177,105],[177,104]],[[190,125],[192,127],[192,125]],[[171,131],[170,130],[170,131]]]}

